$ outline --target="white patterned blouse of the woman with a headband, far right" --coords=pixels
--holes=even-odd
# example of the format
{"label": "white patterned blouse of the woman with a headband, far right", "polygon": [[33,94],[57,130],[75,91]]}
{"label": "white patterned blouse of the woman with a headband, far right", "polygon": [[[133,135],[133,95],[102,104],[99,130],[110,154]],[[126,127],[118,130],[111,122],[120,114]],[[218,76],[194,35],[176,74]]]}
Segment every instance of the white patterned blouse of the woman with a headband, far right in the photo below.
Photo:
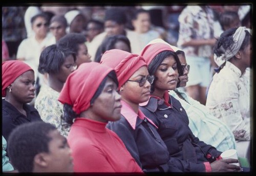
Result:
{"label": "white patterned blouse of the woman with a headband, far right", "polygon": [[236,140],[251,138],[248,75],[242,75],[235,65],[226,61],[225,67],[214,75],[207,95],[210,113],[229,126]]}

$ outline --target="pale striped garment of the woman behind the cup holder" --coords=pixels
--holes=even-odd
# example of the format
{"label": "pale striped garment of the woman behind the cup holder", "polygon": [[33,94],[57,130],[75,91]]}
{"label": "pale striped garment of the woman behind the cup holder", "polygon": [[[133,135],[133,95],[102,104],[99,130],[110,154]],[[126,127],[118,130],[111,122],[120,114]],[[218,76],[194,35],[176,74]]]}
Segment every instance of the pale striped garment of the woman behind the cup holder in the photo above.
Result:
{"label": "pale striped garment of the woman behind the cup holder", "polygon": [[[181,99],[177,92],[186,101]],[[189,128],[196,137],[206,144],[216,147],[219,151],[236,149],[236,142],[229,127],[212,116],[204,105],[189,97],[181,89],[169,91],[169,94],[180,101],[187,113]]]}

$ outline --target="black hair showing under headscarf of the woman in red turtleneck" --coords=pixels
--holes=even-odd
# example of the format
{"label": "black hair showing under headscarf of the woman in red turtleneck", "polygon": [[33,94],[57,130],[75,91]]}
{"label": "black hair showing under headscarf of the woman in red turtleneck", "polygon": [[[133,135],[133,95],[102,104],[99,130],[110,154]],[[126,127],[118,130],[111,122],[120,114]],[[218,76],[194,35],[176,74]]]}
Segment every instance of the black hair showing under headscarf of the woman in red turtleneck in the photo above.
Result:
{"label": "black hair showing under headscarf of the woman in red turtleneck", "polygon": [[[106,77],[101,81],[97,91],[94,93],[91,101],[90,101],[90,104],[92,105],[94,103],[94,101],[99,97],[99,95],[101,94],[104,86],[105,86],[105,83],[106,83],[106,79],[107,78],[110,78],[112,79],[116,85],[118,86],[118,79],[117,79],[117,76],[116,76],[116,72],[115,71],[111,71],[108,75],[106,75]],[[61,118],[67,122],[68,124],[72,125],[73,124],[73,120],[77,117],[79,117],[79,114],[76,114],[73,109],[73,107],[67,103],[65,103],[63,105],[63,116],[61,116]]]}

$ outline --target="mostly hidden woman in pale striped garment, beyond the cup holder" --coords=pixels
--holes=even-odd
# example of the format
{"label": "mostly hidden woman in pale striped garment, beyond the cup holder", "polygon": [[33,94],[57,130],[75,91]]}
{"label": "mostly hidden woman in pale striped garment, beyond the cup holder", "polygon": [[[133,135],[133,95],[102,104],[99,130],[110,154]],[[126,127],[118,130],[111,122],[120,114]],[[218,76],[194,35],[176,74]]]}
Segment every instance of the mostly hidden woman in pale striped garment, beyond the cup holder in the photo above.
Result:
{"label": "mostly hidden woman in pale striped garment, beyond the cup holder", "polygon": [[[162,39],[155,39],[150,43],[154,42],[167,43]],[[169,44],[167,43],[167,45]],[[189,119],[188,125],[192,133],[201,141],[216,147],[219,151],[236,149],[236,142],[228,126],[212,116],[205,105],[202,105],[199,101],[189,97],[186,92],[183,91],[186,82],[188,81],[189,65],[187,65],[185,53],[183,51],[175,46],[170,47],[172,47],[179,57],[183,75],[179,76],[180,82],[177,83],[176,89],[169,90],[169,94],[179,100],[182,107],[185,109]]]}

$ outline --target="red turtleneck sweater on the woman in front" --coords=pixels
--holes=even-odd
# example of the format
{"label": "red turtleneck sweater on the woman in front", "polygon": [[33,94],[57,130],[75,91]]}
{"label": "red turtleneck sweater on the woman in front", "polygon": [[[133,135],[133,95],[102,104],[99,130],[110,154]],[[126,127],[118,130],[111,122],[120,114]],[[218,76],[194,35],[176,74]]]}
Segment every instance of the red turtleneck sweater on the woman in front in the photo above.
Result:
{"label": "red turtleneck sweater on the woman in front", "polygon": [[142,172],[107,123],[76,118],[68,135],[74,172]]}

